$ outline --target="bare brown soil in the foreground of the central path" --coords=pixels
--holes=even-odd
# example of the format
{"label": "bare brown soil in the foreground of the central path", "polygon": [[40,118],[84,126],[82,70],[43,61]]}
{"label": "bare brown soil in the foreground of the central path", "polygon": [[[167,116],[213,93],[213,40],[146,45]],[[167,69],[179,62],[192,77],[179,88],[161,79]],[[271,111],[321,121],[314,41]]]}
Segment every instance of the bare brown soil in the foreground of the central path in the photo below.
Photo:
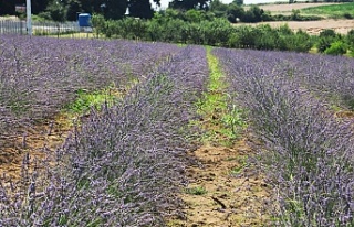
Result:
{"label": "bare brown soil in the foreground of the central path", "polygon": [[191,152],[200,165],[188,169],[188,188],[201,187],[206,193],[180,195],[186,218],[173,220],[169,226],[269,226],[264,207],[271,188],[261,175],[244,165],[251,153],[244,139],[233,148],[209,144]]}

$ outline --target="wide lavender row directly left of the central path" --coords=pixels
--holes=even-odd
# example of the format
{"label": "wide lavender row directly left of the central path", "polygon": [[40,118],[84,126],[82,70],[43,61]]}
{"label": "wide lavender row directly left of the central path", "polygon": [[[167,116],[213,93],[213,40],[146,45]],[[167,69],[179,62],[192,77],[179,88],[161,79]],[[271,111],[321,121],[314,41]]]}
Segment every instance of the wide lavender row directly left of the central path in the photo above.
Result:
{"label": "wide lavender row directly left of the central path", "polygon": [[164,226],[178,215],[205,48],[185,47],[145,76],[116,106],[92,111],[28,186],[2,182],[0,226]]}

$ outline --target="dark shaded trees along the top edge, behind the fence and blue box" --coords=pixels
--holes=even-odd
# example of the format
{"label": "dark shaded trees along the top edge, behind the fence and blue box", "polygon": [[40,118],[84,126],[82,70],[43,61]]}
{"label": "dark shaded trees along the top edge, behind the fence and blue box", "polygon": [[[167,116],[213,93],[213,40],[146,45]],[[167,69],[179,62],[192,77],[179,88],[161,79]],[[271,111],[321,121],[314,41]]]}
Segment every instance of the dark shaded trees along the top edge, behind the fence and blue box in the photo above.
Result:
{"label": "dark shaded trees along the top edge, behind the fence and blue box", "polygon": [[[207,10],[211,0],[174,0],[169,3],[174,9]],[[150,19],[154,15],[154,2],[160,6],[160,0],[31,0],[33,14],[55,21],[75,21],[77,12],[101,13],[106,19],[118,20],[125,17],[127,10],[131,17]],[[0,0],[0,15],[14,15],[15,6],[25,6],[25,0]]]}

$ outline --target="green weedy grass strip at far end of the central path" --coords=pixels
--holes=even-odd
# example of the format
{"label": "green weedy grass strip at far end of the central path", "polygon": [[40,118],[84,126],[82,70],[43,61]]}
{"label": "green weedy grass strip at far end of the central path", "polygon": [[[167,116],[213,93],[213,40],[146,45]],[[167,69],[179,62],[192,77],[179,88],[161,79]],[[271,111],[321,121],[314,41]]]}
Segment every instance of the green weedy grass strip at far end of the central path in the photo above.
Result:
{"label": "green weedy grass strip at far end of the central path", "polygon": [[201,127],[207,131],[204,142],[230,145],[246,127],[246,122],[242,119],[242,110],[228,104],[229,95],[226,93],[228,85],[223,79],[218,58],[210,52],[211,47],[207,47],[210,71],[208,90],[197,104],[202,116]]}

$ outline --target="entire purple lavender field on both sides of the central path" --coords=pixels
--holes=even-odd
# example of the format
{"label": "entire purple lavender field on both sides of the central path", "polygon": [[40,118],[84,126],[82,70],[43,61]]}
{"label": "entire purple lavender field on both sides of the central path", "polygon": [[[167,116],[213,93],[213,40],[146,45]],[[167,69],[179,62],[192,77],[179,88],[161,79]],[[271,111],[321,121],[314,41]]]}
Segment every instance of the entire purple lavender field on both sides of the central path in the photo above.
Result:
{"label": "entire purple lavender field on both sides of the central path", "polygon": [[[184,216],[187,152],[205,133],[191,123],[201,121],[196,104],[210,79],[205,47],[0,36],[0,156],[17,149],[23,158],[18,179],[0,176],[0,226],[166,226]],[[354,109],[354,62],[211,53],[227,105],[246,115],[241,136],[257,151],[248,162],[272,191],[264,226],[353,226],[353,118],[336,114]],[[42,159],[23,148],[24,134],[79,91],[106,88],[119,98],[88,109],[61,145]]]}

